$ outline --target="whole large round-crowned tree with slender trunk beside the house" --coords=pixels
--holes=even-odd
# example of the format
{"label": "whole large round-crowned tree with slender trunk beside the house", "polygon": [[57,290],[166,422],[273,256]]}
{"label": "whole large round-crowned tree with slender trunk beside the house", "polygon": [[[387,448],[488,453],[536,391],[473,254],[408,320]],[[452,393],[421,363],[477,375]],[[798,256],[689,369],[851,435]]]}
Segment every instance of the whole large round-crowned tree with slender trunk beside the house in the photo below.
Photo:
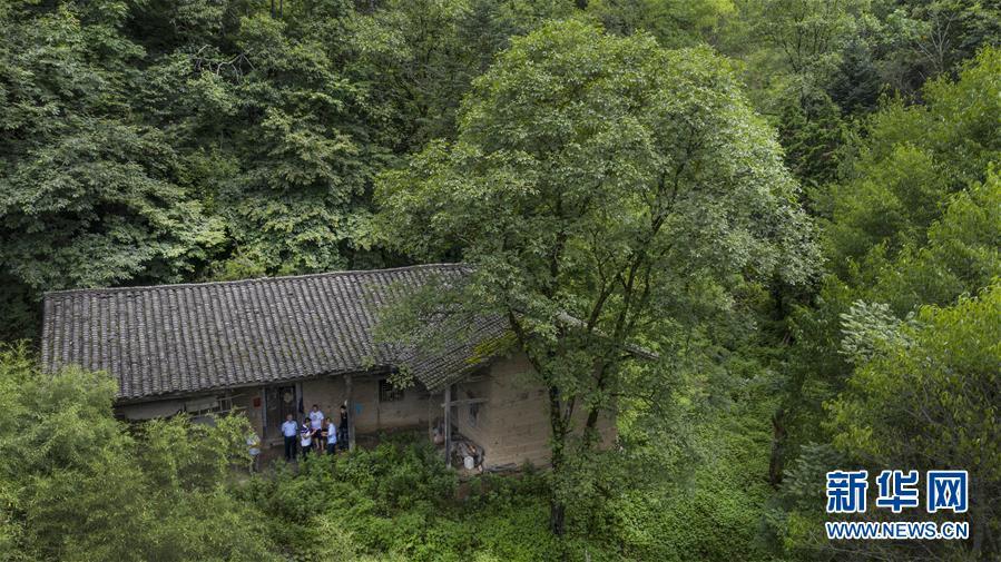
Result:
{"label": "whole large round-crowned tree with slender trunk beside the house", "polygon": [[413,257],[470,266],[411,307],[508,321],[548,392],[561,534],[575,454],[638,390],[627,379],[658,395],[686,338],[738,309],[748,284],[805,279],[809,223],[774,132],[706,49],[550,23],[475,80],[459,124],[455,142],[382,177],[380,224]]}

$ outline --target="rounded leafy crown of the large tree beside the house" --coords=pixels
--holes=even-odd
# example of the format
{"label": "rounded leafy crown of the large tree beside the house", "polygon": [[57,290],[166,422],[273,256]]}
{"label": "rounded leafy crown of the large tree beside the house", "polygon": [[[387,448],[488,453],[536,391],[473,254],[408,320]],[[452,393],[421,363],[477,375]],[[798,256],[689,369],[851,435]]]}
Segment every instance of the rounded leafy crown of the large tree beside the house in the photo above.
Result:
{"label": "rounded leafy crown of the large tree beside the house", "polygon": [[[432,144],[385,176],[385,235],[424,258],[458,243],[491,284],[477,298],[517,303],[539,332],[557,312],[590,318],[597,304],[592,322],[621,337],[601,305],[622,302],[617,273],[650,257],[641,250],[651,245],[659,262],[639,273],[676,273],[637,278],[650,293],[644,306],[685,307],[687,297],[710,306],[730,276],[775,269],[778,256],[786,275],[802,278],[794,184],[729,75],[706,70],[715,62],[578,23],[520,40],[478,80],[458,144]],[[709,269],[719,273],[701,276]],[[691,295],[658,296],[686,282]]]}

